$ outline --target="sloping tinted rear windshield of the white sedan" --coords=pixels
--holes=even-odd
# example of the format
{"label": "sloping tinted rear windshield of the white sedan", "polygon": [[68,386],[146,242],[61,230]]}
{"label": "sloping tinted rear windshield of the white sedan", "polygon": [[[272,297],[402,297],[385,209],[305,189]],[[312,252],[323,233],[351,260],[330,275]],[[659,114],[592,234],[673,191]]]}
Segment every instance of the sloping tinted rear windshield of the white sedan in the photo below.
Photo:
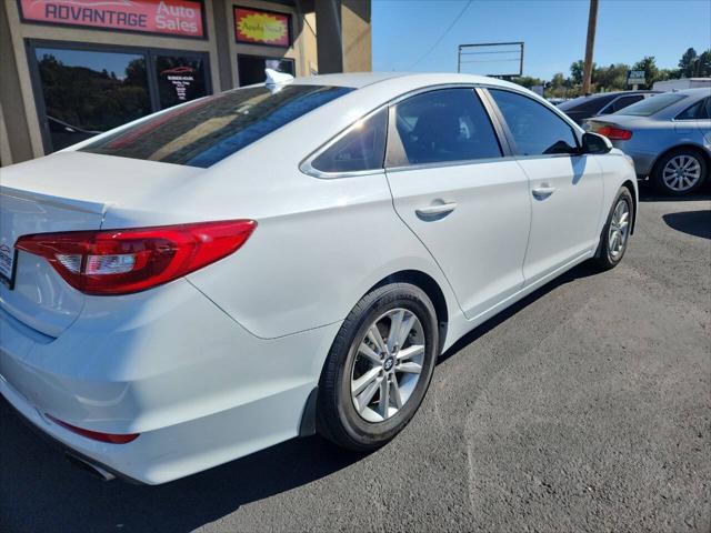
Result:
{"label": "sloping tinted rear windshield of the white sedan", "polygon": [[350,91],[324,86],[238,89],[159,114],[80,151],[207,168]]}

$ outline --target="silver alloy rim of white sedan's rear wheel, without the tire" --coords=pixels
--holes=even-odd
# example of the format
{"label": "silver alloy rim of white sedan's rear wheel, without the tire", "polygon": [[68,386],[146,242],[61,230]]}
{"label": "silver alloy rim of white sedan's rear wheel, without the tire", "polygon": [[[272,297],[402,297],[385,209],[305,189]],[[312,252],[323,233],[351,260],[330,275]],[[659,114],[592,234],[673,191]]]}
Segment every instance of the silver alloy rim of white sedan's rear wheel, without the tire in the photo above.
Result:
{"label": "silver alloy rim of white sedan's rear wheel, without the tire", "polygon": [[408,402],[422,373],[424,331],[417,315],[392,309],[368,328],[351,369],[351,400],[368,422],[394,416]]}

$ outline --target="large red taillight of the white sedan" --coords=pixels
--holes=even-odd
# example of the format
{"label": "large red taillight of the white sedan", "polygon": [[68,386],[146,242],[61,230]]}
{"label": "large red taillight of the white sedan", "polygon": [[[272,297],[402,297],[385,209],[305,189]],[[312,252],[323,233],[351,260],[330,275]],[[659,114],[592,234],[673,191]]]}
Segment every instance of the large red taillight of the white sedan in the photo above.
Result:
{"label": "large red taillight of the white sedan", "polygon": [[41,233],[14,248],[40,255],[86,294],[128,294],[182,278],[244,244],[253,220]]}

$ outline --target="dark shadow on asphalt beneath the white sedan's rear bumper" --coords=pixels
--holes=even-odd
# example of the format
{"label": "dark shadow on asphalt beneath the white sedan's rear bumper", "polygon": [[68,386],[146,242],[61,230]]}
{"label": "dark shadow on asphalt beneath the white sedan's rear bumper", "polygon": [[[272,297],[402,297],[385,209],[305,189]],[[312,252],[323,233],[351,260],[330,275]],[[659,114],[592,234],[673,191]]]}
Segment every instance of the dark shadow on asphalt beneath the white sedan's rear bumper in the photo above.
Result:
{"label": "dark shadow on asphalt beneath the white sedan's rear bumper", "polygon": [[[0,398],[0,530],[189,532],[363,457],[294,439],[159,486],[103,482],[72,466]],[[6,514],[7,513],[7,514]]]}

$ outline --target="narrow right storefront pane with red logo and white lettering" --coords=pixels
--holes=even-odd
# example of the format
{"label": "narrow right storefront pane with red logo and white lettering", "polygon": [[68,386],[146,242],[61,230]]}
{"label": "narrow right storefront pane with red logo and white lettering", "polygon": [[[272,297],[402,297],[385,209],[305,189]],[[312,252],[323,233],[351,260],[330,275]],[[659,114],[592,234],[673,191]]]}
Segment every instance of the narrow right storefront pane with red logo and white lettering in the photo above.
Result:
{"label": "narrow right storefront pane with red logo and white lettering", "polygon": [[201,58],[156,56],[156,76],[161,109],[207,94]]}

